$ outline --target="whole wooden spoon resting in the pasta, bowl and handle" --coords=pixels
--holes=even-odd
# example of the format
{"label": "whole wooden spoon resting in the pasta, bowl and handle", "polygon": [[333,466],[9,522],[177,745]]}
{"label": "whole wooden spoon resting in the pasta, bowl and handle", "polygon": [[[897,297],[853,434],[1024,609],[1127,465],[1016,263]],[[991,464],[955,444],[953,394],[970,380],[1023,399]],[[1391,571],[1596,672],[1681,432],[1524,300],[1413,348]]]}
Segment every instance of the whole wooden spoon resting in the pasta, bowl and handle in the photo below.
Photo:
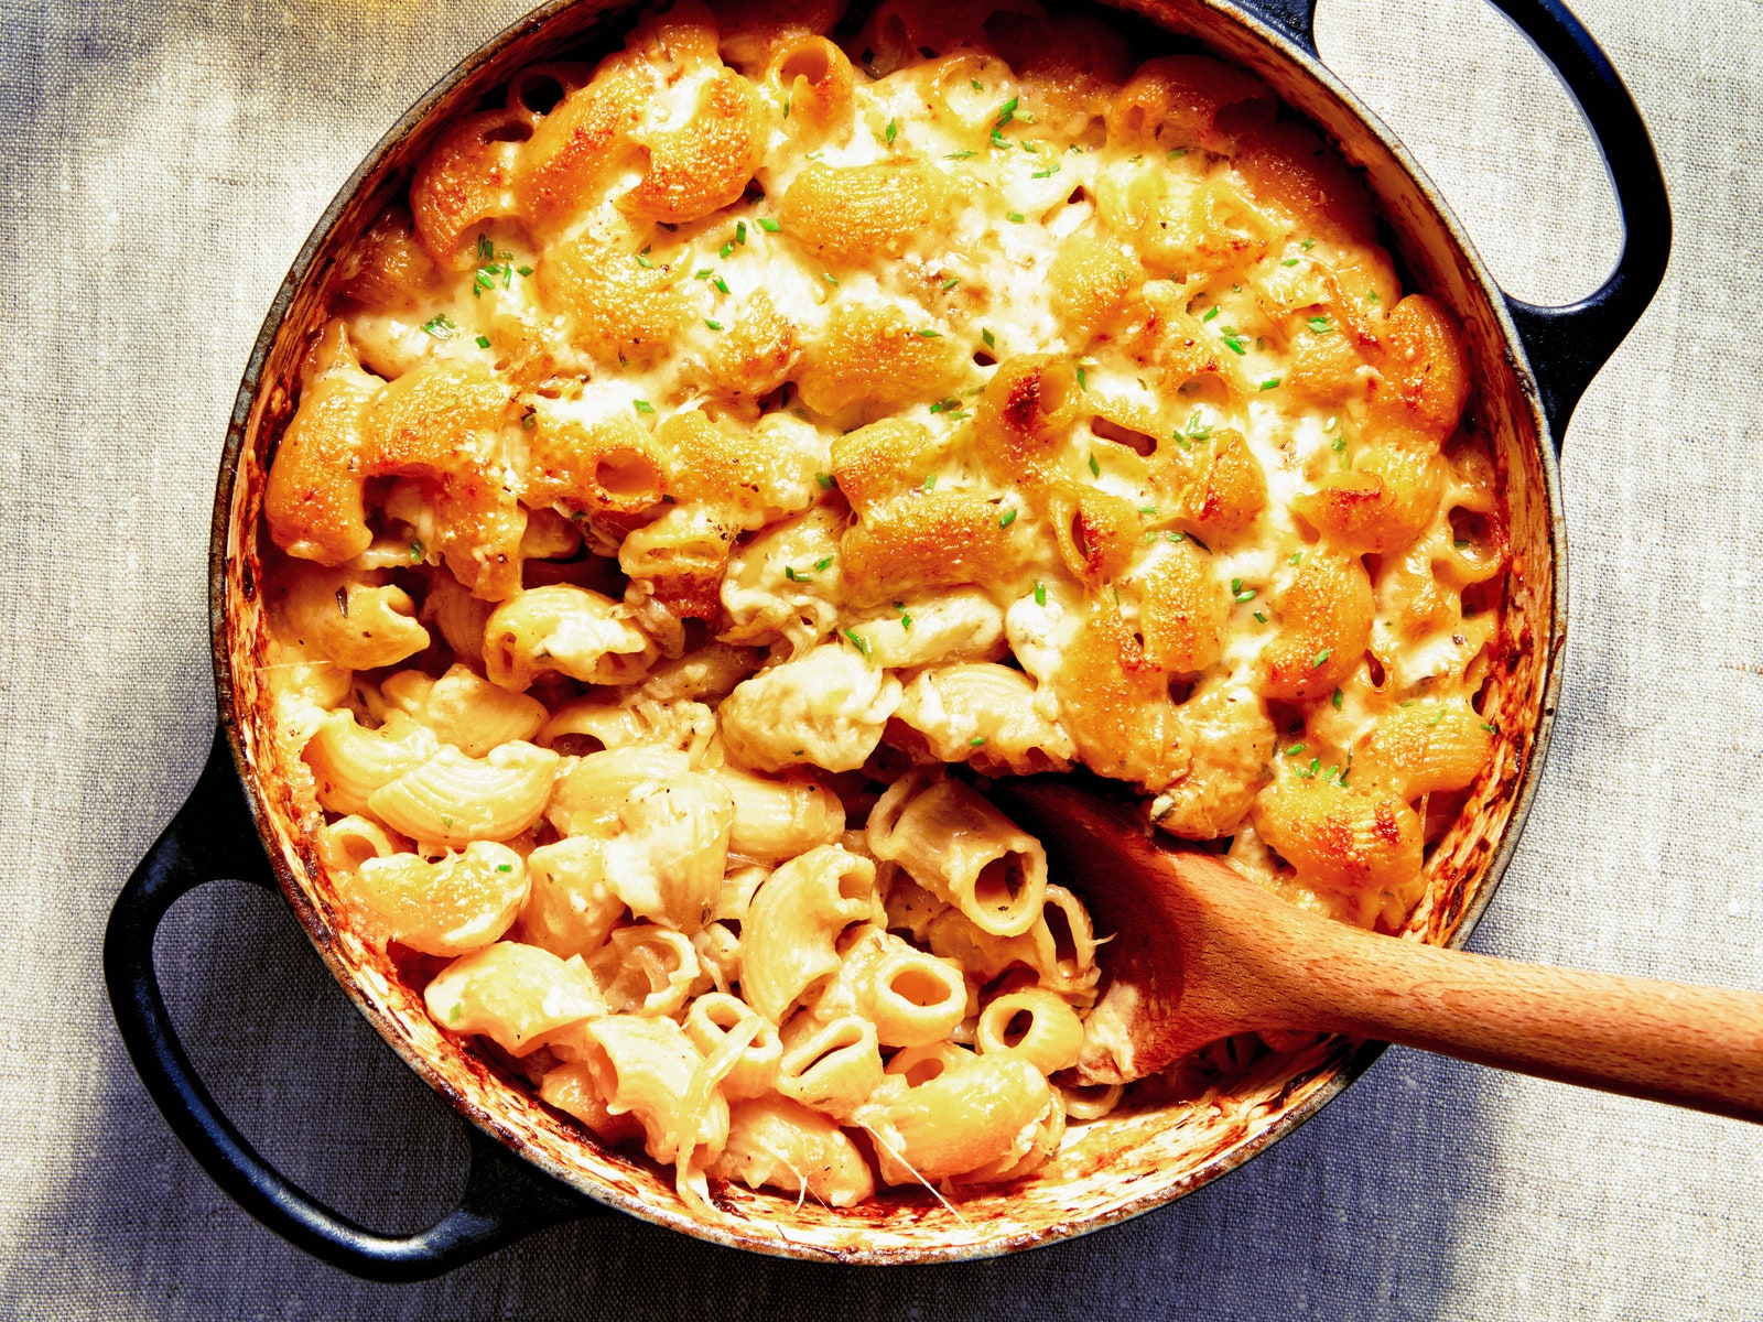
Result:
{"label": "whole wooden spoon resting in the pasta, bowl and handle", "polygon": [[1763,1121],[1763,994],[1377,936],[1160,844],[1142,809],[1068,777],[1003,779],[991,797],[1114,934],[1086,1081],[1130,1082],[1232,1033],[1303,1029]]}

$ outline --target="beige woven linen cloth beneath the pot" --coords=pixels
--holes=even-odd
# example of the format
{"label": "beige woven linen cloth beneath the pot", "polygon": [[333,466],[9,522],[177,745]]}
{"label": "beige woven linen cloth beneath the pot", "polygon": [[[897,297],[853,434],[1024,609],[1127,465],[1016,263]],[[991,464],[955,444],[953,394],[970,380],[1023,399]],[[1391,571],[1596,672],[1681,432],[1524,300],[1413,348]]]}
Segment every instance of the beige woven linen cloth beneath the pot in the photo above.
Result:
{"label": "beige woven linen cloth beneath the pot", "polygon": [[[1756,1318],[1763,1130],[1389,1052],[1271,1155],[1123,1229],[892,1273],[622,1220],[376,1287],[264,1232],[152,1110],[99,980],[111,897],[212,723],[203,575],[247,349],[381,129],[522,0],[0,0],[0,1315],[21,1318]],[[1581,0],[1677,208],[1567,439],[1562,723],[1481,950],[1763,987],[1763,4]],[[1324,0],[1322,51],[1514,293],[1617,250],[1588,139],[1476,0]],[[464,1140],[268,897],[160,964],[222,1100],[386,1227]]]}

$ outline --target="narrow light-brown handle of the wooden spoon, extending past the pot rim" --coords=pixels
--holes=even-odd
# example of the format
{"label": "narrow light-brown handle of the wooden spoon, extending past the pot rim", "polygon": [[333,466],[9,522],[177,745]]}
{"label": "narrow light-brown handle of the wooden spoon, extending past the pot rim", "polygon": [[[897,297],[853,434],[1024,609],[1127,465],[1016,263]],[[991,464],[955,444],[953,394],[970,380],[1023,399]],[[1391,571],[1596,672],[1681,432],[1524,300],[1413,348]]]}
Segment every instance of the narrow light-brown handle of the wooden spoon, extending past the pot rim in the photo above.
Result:
{"label": "narrow light-brown handle of the wooden spoon, extending past the pot rim", "polygon": [[1763,1121],[1763,994],[1521,964],[1342,929],[1299,1017],[1543,1079]]}

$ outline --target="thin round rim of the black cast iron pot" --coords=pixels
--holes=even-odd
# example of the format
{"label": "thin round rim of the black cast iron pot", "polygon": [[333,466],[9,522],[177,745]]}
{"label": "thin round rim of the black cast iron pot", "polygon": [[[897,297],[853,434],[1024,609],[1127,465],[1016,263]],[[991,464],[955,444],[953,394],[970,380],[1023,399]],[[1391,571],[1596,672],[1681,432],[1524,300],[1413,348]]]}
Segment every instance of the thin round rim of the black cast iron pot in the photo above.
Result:
{"label": "thin round rim of the black cast iron pot", "polygon": [[[1157,16],[1144,5],[1142,0],[1097,0],[1102,7],[1114,7],[1125,12],[1148,18],[1157,23]],[[1479,252],[1470,241],[1467,231],[1458,220],[1456,213],[1449,208],[1444,196],[1439,192],[1437,185],[1426,176],[1419,162],[1403,146],[1403,143],[1391,132],[1391,129],[1345,85],[1342,79],[1322,62],[1320,55],[1313,55],[1298,44],[1285,30],[1275,26],[1264,18],[1257,16],[1248,9],[1241,9],[1232,0],[1194,0],[1202,5],[1209,14],[1224,25],[1234,25],[1253,33],[1264,46],[1271,48],[1275,55],[1282,56],[1292,63],[1298,71],[1317,83],[1324,92],[1335,97],[1358,122],[1370,132],[1377,143],[1387,152],[1389,159],[1396,167],[1407,175],[1409,182],[1416,187],[1419,196],[1426,201],[1430,208],[1430,219],[1439,224],[1440,233],[1447,234],[1451,247],[1454,249],[1454,257],[1462,264],[1462,273],[1479,289],[1486,300],[1490,310],[1493,312],[1495,323],[1499,326],[1500,340],[1504,345],[1504,360],[1507,368],[1516,379],[1518,390],[1523,397],[1525,409],[1530,414],[1534,444],[1537,448],[1539,471],[1543,476],[1543,488],[1548,509],[1548,546],[1550,546],[1550,610],[1548,610],[1548,635],[1546,656],[1541,659],[1541,694],[1536,712],[1536,723],[1529,735],[1529,756],[1518,769],[1518,784],[1513,795],[1511,813],[1506,825],[1500,830],[1499,843],[1490,853],[1484,867],[1481,869],[1481,878],[1465,904],[1462,915],[1458,917],[1451,936],[1446,945],[1453,948],[1463,947],[1481,915],[1499,890],[1500,881],[1506,876],[1506,869],[1511,865],[1513,857],[1518,850],[1518,841],[1523,834],[1525,823],[1530,816],[1530,809],[1536,800],[1536,793],[1541,783],[1543,765],[1546,761],[1550,740],[1555,726],[1555,712],[1560,698],[1560,686],[1564,675],[1562,656],[1567,640],[1567,538],[1566,538],[1566,516],[1562,508],[1560,492],[1560,465],[1557,460],[1558,439],[1551,435],[1548,416],[1543,407],[1541,391],[1537,390],[1537,381],[1530,365],[1529,353],[1525,351],[1523,338],[1513,321],[1509,301],[1506,293],[1493,280]],[[227,747],[233,754],[233,769],[245,791],[245,802],[250,807],[257,836],[270,844],[275,839],[272,830],[270,807],[264,804],[261,793],[257,791],[256,781],[250,776],[250,761],[245,756],[243,742],[240,737],[240,714],[234,702],[234,677],[233,677],[233,657],[229,654],[227,640],[227,559],[229,559],[229,531],[231,531],[231,513],[233,499],[238,483],[240,460],[243,455],[245,441],[250,432],[250,418],[261,398],[264,386],[264,368],[268,365],[270,354],[280,337],[286,324],[287,312],[293,307],[296,294],[319,273],[319,257],[330,247],[333,231],[337,229],[340,219],[347,212],[349,204],[360,194],[361,187],[374,180],[384,167],[388,157],[409,137],[413,132],[421,129],[430,116],[441,108],[464,83],[471,81],[485,65],[497,60],[511,44],[531,35],[538,28],[550,23],[554,18],[577,9],[582,4],[592,4],[592,0],[547,0],[547,4],[522,16],[515,23],[502,28],[499,33],[480,44],[467,56],[464,56],[450,72],[437,79],[421,97],[418,97],[409,109],[397,118],[397,122],[379,137],[379,141],[368,150],[361,162],[349,173],[344,183],[338,187],[337,194],[326,204],[324,212],[319,215],[307,240],[296,252],[287,275],[282,279],[270,300],[270,307],[264,314],[261,330],[252,345],[250,358],[243,377],[240,381],[238,395],[234,397],[233,412],[226,430],[226,442],[220,453],[220,469],[215,483],[215,502],[210,524],[210,553],[208,553],[208,631],[210,631],[210,652],[213,657],[213,677],[215,677],[215,707],[220,730],[226,735]],[[615,14],[638,7],[642,0],[631,0],[629,4],[608,5],[603,12]],[[1164,26],[1158,23],[1158,26]],[[1165,28],[1167,30],[1167,28]],[[1201,33],[1204,41],[1204,35]],[[286,857],[277,848],[266,848],[268,862],[275,871],[277,885],[287,904],[293,908],[294,915],[300,918],[300,925],[307,938],[312,941],[319,957],[330,968],[331,977],[340,984],[344,992],[349,996],[351,1003],[360,1010],[381,1038],[409,1065],[435,1093],[439,1093],[448,1105],[457,1110],[465,1121],[485,1132],[488,1137],[495,1139],[515,1155],[534,1163],[538,1169],[545,1170],[548,1176],[557,1177],[569,1188],[582,1192],[584,1195],[601,1202],[608,1207],[638,1216],[654,1225],[661,1225],[682,1234],[689,1234],[696,1239],[705,1239],[710,1243],[723,1244],[726,1248],[746,1248],[753,1251],[762,1251],[777,1257],[793,1257],[807,1260],[827,1260],[834,1259],[848,1264],[866,1264],[866,1266],[904,1266],[904,1264],[926,1264],[926,1262],[952,1262],[952,1260],[978,1260],[989,1257],[1000,1257],[1003,1253],[1019,1251],[1024,1248],[1037,1248],[1044,1244],[1060,1243],[1065,1239],[1074,1239],[1077,1236],[1100,1230],[1109,1225],[1118,1225],[1125,1220],[1141,1216],[1157,1207],[1164,1207],[1176,1202],[1197,1188],[1209,1185],[1220,1176],[1229,1174],[1243,1167],[1252,1158],[1268,1151],[1275,1142],[1292,1133],[1305,1121],[1312,1119],[1324,1105],[1340,1096],[1352,1082],[1363,1075],[1373,1061],[1384,1052],[1387,1043],[1382,1042],[1359,1042],[1342,1051],[1336,1051],[1324,1061],[1322,1068],[1331,1068],[1335,1073],[1326,1086],[1312,1091],[1303,1102],[1285,1110],[1276,1121],[1273,1121],[1266,1130],[1252,1135],[1241,1144],[1234,1146],[1227,1155],[1216,1158],[1209,1165],[1194,1172],[1190,1179],[1179,1185],[1164,1186],[1153,1193],[1146,1193],[1135,1200],[1121,1204],[1111,1211],[1093,1214],[1082,1223],[1061,1223],[1053,1229],[1017,1232],[989,1239],[980,1244],[956,1244],[948,1248],[926,1246],[910,1250],[850,1250],[829,1253],[816,1246],[779,1243],[770,1237],[758,1237],[751,1234],[740,1234],[730,1225],[718,1222],[696,1222],[677,1211],[658,1209],[651,1204],[642,1202],[635,1197],[624,1197],[617,1190],[605,1186],[587,1186],[580,1183],[578,1172],[573,1172],[561,1163],[550,1160],[545,1153],[525,1146],[518,1135],[515,1135],[506,1125],[502,1125],[497,1116],[485,1110],[471,1098],[464,1096],[437,1068],[435,1065],[418,1052],[409,1042],[405,1042],[398,1033],[391,1031],[390,1019],[361,992],[356,982],[354,971],[344,964],[337,955],[335,948],[321,938],[324,932],[323,917],[317,913],[316,906],[307,897],[305,890],[296,881],[293,871],[287,865]]]}

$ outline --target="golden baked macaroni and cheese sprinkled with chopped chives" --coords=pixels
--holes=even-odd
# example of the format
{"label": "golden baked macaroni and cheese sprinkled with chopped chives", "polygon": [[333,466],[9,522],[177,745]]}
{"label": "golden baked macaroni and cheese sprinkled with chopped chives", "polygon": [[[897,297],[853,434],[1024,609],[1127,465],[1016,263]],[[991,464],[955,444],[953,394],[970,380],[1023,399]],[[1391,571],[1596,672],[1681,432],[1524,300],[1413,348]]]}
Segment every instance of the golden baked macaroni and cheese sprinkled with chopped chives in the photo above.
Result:
{"label": "golden baked macaroni and cheese sprinkled with chopped chives", "polygon": [[1449,314],[1206,55],[1031,0],[693,0],[437,137],[263,497],[277,730],[435,1022],[682,1197],[1035,1170],[1086,767],[1400,929],[1504,527]]}

